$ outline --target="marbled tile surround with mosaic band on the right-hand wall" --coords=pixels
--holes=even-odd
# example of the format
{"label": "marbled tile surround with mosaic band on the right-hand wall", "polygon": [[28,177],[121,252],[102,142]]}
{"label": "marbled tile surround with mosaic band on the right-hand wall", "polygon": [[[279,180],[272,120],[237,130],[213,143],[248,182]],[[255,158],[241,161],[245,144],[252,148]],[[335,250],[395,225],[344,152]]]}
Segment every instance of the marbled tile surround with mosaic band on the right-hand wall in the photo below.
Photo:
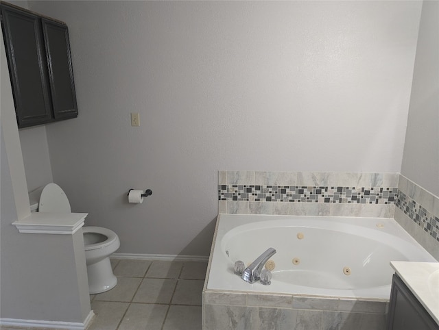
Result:
{"label": "marbled tile surround with mosaic band on the right-hand wall", "polygon": [[439,197],[400,175],[394,219],[439,260]]}

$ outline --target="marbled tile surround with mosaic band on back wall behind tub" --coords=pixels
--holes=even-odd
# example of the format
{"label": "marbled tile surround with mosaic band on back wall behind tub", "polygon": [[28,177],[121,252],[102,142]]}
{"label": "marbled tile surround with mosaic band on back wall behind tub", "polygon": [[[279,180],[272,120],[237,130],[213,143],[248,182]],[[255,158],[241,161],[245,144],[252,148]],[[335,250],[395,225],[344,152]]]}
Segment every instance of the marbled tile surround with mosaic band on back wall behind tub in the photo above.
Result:
{"label": "marbled tile surround with mosaic band on back wall behind tub", "polygon": [[396,173],[220,171],[219,213],[393,217]]}

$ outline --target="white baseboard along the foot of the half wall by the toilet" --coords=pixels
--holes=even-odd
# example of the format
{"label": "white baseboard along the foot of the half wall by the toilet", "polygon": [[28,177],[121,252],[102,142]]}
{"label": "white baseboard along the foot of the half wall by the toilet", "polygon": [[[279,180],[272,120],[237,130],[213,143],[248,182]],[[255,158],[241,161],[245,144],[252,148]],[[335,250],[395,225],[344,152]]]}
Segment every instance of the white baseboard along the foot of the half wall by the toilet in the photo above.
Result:
{"label": "white baseboard along the foot of the half wall by the toilet", "polygon": [[45,320],[21,320],[19,318],[0,318],[1,326],[18,327],[18,328],[45,328],[45,329],[69,329],[84,330],[88,327],[91,320],[95,316],[93,311],[88,313],[84,322],[61,322],[61,321],[45,321]]}

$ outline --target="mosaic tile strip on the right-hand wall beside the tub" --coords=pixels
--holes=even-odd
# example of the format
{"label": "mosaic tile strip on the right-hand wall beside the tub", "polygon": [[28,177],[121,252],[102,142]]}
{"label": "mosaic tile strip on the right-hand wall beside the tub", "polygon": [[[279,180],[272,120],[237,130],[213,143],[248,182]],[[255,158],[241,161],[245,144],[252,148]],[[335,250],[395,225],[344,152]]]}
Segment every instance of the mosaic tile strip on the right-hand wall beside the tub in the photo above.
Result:
{"label": "mosaic tile strip on the right-hand wall beside the tub", "polygon": [[412,219],[419,227],[429,233],[431,237],[439,242],[439,218],[416,203],[414,199],[404,192],[398,191],[395,201],[396,207]]}

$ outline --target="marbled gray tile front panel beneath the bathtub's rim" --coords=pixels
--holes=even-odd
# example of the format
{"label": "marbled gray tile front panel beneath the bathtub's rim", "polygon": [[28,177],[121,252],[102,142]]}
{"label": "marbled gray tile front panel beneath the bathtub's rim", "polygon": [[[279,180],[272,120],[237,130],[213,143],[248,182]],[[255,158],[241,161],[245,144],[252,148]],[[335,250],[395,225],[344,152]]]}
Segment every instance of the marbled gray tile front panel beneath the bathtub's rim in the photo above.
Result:
{"label": "marbled gray tile front panel beneath the bathtub's rim", "polygon": [[385,329],[387,301],[204,291],[203,329]]}

